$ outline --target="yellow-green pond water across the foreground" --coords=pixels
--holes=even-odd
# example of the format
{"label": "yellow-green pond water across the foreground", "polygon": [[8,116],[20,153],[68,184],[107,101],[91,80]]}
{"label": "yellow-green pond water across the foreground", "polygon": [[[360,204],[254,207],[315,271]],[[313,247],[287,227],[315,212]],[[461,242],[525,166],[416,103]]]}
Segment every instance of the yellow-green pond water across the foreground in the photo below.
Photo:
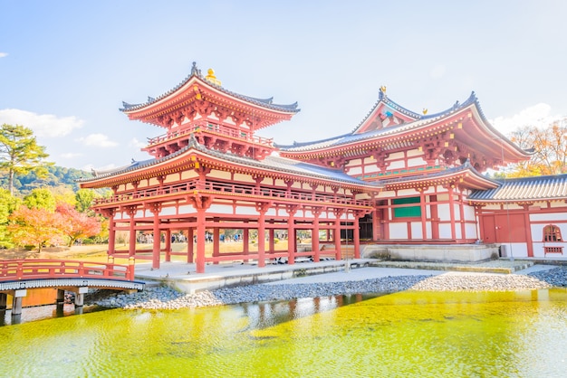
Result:
{"label": "yellow-green pond water across the foreground", "polygon": [[567,290],[401,292],[0,327],[0,376],[558,377]]}

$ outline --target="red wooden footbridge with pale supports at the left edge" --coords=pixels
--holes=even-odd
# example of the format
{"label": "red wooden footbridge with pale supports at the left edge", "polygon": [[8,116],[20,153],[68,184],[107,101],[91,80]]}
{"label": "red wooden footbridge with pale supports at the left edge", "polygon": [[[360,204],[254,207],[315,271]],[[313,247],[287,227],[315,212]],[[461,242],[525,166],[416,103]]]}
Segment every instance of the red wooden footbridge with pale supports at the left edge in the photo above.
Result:
{"label": "red wooden footbridge with pale supports at the left edge", "polygon": [[7,295],[14,298],[12,315],[22,313],[22,298],[28,289],[57,288],[57,302],[64,292],[75,292],[75,306],[82,306],[89,288],[143,290],[144,282],[134,280],[134,261],[128,265],[77,260],[0,260],[0,311]]}

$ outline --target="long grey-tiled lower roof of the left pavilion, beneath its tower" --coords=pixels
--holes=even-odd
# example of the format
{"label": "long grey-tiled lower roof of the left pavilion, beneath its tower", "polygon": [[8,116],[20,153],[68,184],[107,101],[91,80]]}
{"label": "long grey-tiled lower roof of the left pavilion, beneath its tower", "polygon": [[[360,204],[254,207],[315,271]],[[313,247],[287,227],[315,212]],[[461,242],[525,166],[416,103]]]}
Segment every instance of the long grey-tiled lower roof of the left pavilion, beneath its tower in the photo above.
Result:
{"label": "long grey-tiled lower roof of the left pavilion, beneath its tower", "polygon": [[175,160],[178,156],[187,155],[189,151],[198,151],[206,154],[207,156],[216,157],[218,159],[225,160],[232,165],[246,165],[248,167],[254,167],[257,169],[265,169],[270,171],[277,171],[283,174],[290,175],[303,175],[306,177],[312,177],[319,180],[325,181],[335,181],[345,184],[354,184],[358,186],[381,188],[380,184],[367,183],[365,181],[359,180],[357,178],[346,175],[340,169],[325,168],[321,165],[313,165],[309,163],[299,162],[293,159],[288,159],[281,156],[266,156],[264,160],[259,161],[247,156],[236,156],[232,153],[222,153],[220,151],[208,149],[206,146],[202,146],[197,143],[195,137],[191,136],[189,139],[188,146],[178,150],[177,152],[164,156],[161,158],[154,158],[144,161],[132,161],[132,164],[121,166],[114,170],[108,170],[104,172],[93,171],[93,177],[82,178],[77,180],[79,183],[89,183],[98,180],[104,180],[111,178],[112,176],[131,174],[136,171],[142,171],[148,169],[154,165],[162,165],[168,161]]}

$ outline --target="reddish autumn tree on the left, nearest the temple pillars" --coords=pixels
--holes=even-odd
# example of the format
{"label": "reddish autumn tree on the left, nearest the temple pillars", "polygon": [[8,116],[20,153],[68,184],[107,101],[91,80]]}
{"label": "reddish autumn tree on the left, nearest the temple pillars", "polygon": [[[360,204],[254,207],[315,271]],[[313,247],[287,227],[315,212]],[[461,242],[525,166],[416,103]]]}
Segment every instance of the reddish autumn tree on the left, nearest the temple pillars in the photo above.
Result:
{"label": "reddish autumn tree on the left, nearest the temple pillars", "polygon": [[96,217],[79,213],[72,204],[58,203],[56,213],[61,214],[61,231],[67,237],[69,247],[78,239],[94,236],[101,232],[101,222]]}

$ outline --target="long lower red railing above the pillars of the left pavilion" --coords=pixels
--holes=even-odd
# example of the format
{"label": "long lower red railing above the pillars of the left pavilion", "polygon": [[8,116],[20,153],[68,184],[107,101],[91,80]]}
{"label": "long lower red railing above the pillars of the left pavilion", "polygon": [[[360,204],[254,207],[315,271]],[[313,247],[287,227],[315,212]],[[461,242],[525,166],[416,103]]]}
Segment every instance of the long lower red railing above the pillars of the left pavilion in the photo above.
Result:
{"label": "long lower red railing above the pillars of the left pavilion", "polygon": [[129,194],[116,194],[108,198],[96,198],[94,204],[103,203],[118,203],[130,200],[137,200],[145,197],[155,197],[159,195],[167,194],[178,194],[187,192],[207,191],[218,194],[243,194],[243,195],[254,195],[263,196],[270,198],[280,198],[293,201],[310,201],[310,202],[321,202],[321,203],[338,203],[344,205],[354,205],[354,206],[367,206],[367,201],[358,201],[351,198],[346,198],[341,194],[315,194],[315,193],[305,193],[305,192],[295,192],[286,191],[283,189],[274,188],[258,188],[251,185],[242,184],[229,184],[229,183],[200,183],[198,180],[187,181],[182,184],[171,184],[166,186],[153,187],[148,189],[141,189],[135,193]]}

